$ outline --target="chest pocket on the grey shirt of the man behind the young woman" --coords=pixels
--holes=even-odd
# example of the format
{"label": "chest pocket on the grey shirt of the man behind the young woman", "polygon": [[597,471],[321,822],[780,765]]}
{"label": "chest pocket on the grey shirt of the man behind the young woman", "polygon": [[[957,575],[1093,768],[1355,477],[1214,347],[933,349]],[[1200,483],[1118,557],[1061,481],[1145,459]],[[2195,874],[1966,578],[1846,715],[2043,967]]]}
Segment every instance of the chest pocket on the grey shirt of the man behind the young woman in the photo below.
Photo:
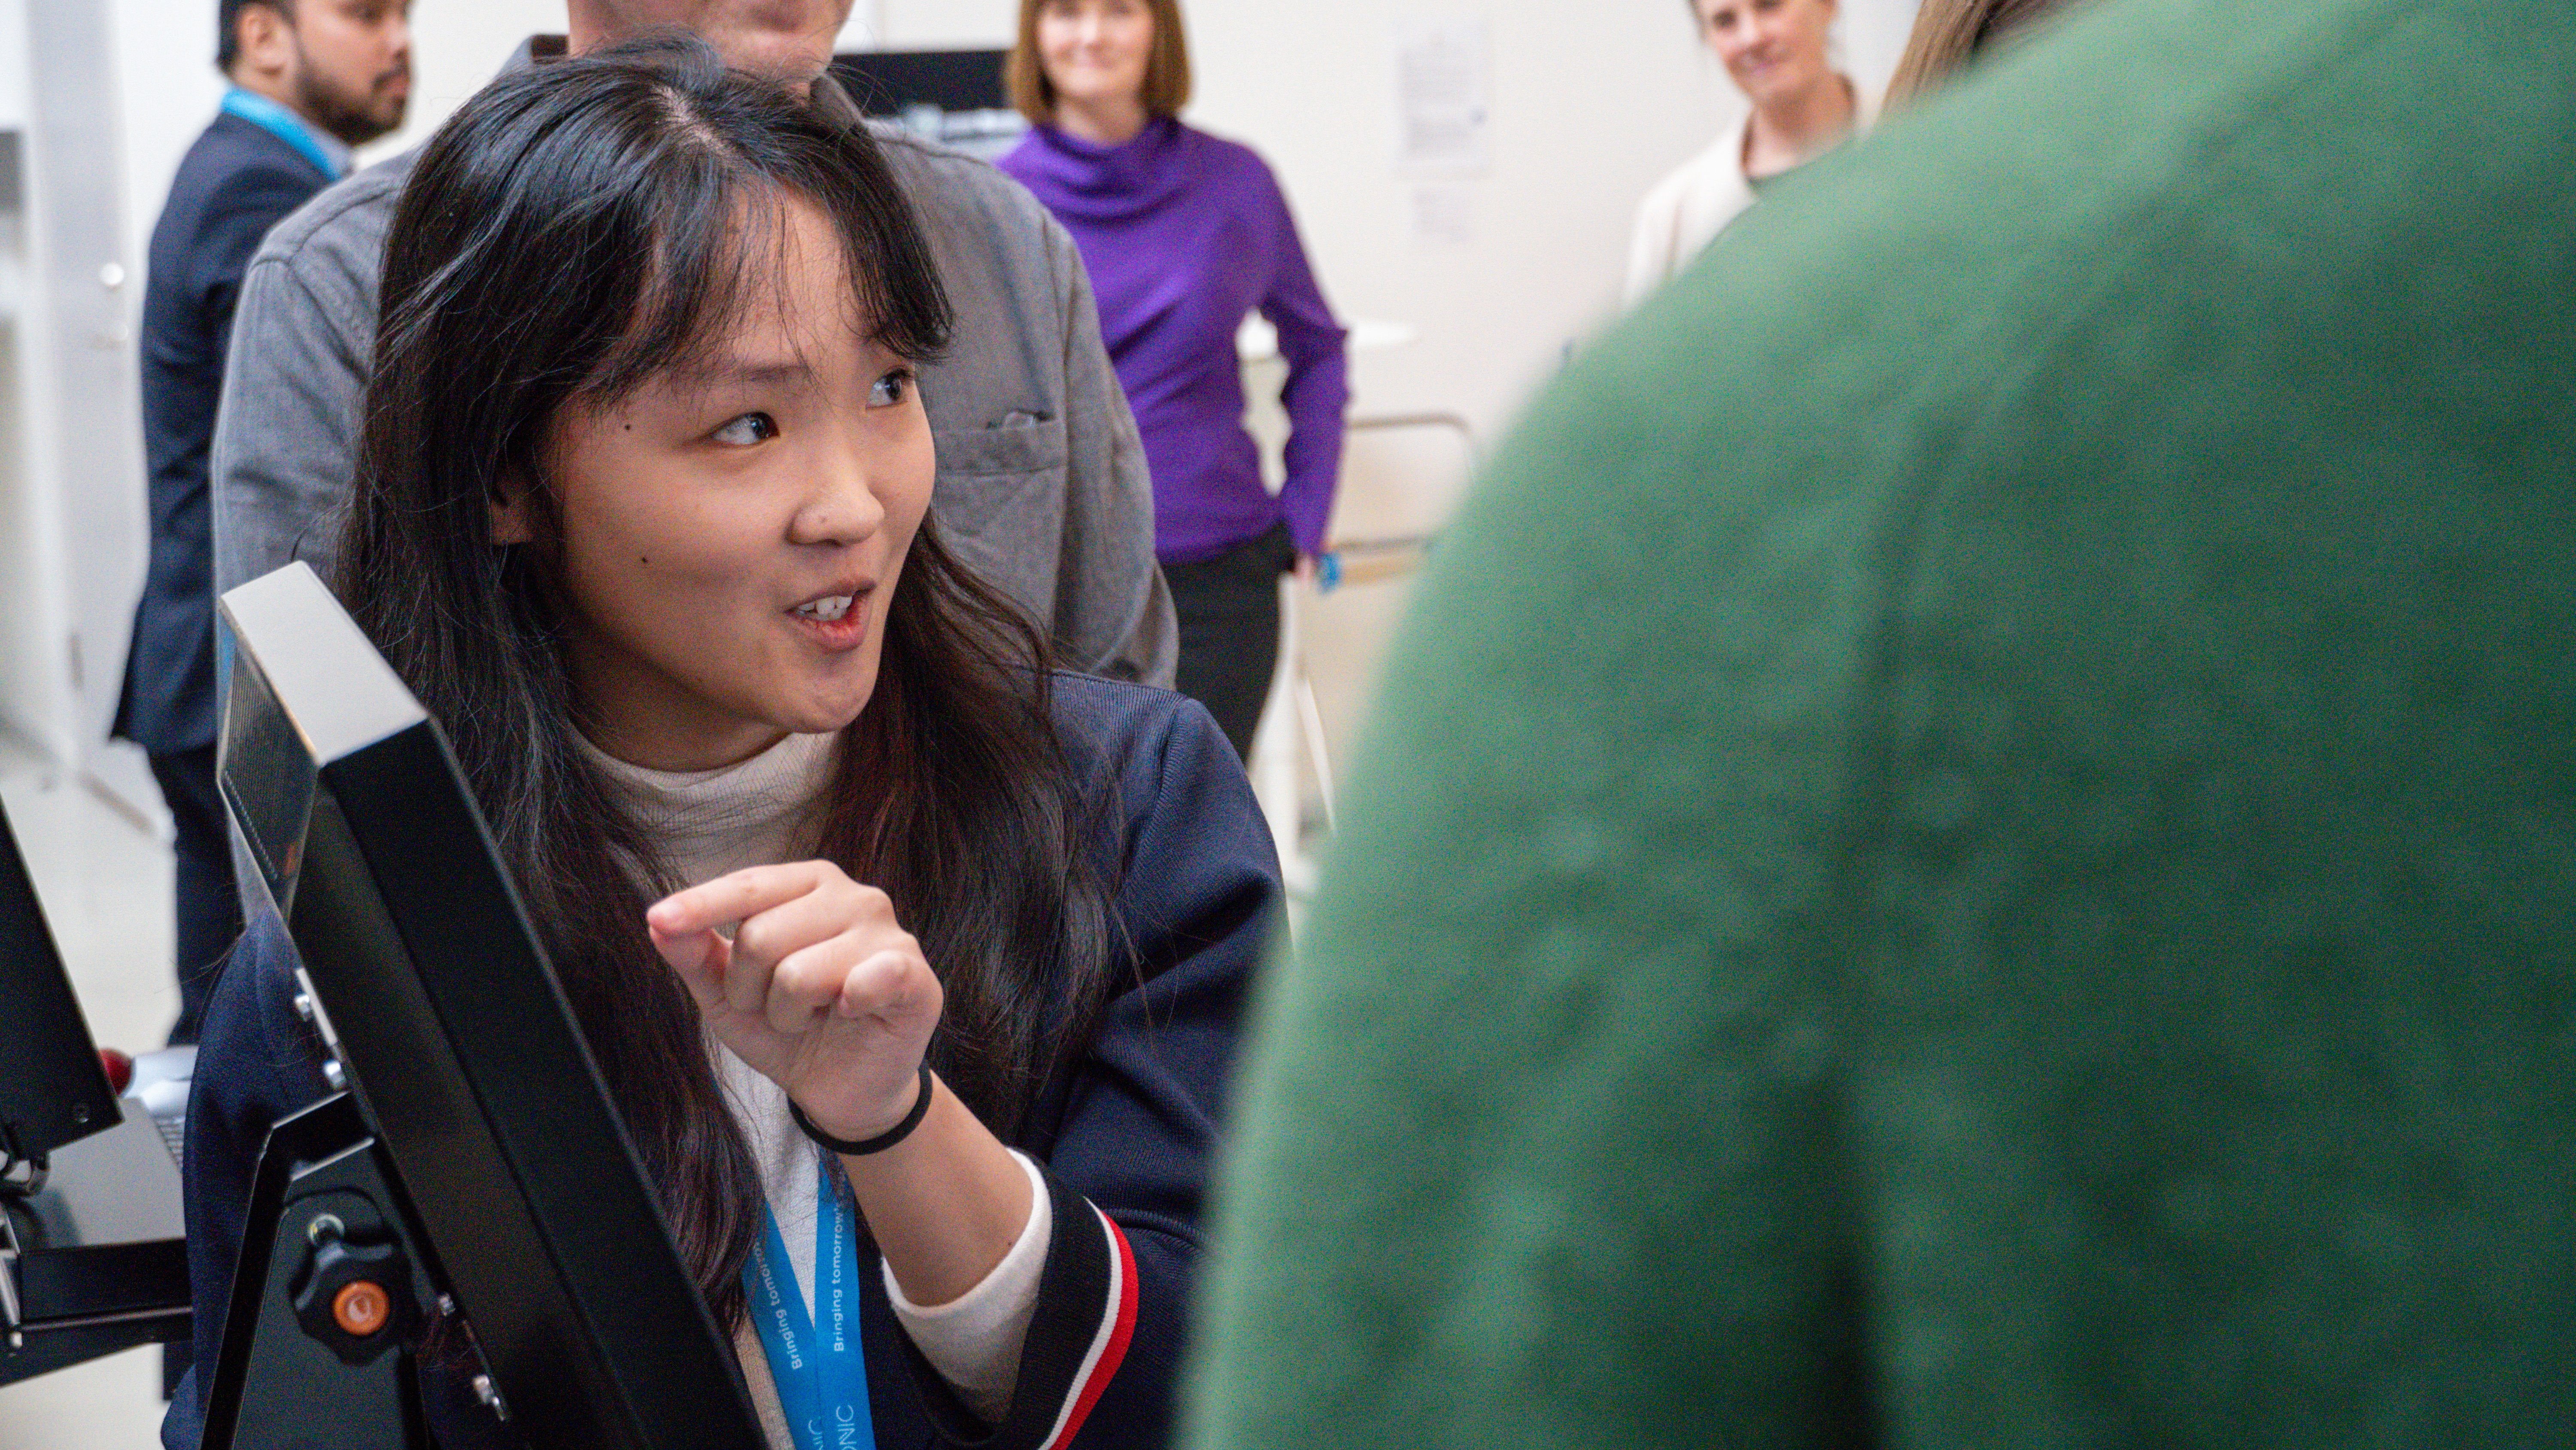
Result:
{"label": "chest pocket on the grey shirt of the man behind the young woman", "polygon": [[940,458],[930,510],[969,569],[1041,621],[1054,613],[1064,549],[1064,420],[1010,420],[933,435]]}

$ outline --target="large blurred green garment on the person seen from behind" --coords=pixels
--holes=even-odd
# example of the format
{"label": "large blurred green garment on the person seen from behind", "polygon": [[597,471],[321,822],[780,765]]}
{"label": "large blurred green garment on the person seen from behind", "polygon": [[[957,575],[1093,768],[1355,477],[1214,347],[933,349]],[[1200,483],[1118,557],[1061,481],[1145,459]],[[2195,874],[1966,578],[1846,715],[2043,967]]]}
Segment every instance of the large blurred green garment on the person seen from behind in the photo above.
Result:
{"label": "large blurred green garment on the person seen from behind", "polygon": [[2112,0],[1584,358],[1275,981],[1193,1442],[2566,1442],[2571,175],[2563,0]]}

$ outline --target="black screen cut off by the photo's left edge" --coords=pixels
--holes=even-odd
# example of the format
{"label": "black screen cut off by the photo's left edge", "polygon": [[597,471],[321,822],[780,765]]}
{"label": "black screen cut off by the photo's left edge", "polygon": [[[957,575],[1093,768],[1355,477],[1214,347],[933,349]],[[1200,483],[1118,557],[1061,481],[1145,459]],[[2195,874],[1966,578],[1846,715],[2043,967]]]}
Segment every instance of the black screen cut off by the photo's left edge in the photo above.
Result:
{"label": "black screen cut off by the photo's left edge", "polygon": [[0,1180],[121,1123],[90,1022],[0,809]]}

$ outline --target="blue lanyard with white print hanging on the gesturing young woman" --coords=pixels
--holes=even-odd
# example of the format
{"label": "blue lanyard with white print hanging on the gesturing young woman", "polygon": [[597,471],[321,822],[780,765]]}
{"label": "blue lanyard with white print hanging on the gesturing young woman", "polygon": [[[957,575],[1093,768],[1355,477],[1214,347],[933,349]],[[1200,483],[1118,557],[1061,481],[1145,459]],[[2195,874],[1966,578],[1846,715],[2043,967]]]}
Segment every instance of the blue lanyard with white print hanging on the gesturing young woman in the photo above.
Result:
{"label": "blue lanyard with white print hanging on the gesturing young woman", "polygon": [[809,1450],[876,1450],[876,1424],[868,1419],[868,1355],[858,1332],[858,1236],[850,1231],[850,1208],[842,1200],[840,1174],[832,1159],[814,1154],[814,1308],[822,1324],[806,1313],[804,1293],[788,1270],[788,1241],[778,1234],[778,1216],[768,1221],[768,1239],[752,1247],[752,1262],[742,1265],[742,1295],[760,1321],[760,1347],[770,1357],[770,1378],[778,1380],[778,1406],[788,1414],[788,1435]]}

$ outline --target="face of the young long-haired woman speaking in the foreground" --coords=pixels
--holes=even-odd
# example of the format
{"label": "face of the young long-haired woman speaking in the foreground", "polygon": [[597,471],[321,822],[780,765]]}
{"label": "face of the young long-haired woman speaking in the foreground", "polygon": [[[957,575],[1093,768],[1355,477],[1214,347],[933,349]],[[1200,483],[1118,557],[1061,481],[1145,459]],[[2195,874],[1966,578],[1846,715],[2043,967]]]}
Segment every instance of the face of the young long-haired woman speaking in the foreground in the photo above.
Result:
{"label": "face of the young long-haired woman speaking in the foreground", "polygon": [[[618,760],[711,770],[858,719],[930,507],[912,366],[853,325],[840,240],[788,198],[773,278],[688,376],[567,407],[549,484],[582,729]],[[765,237],[762,237],[765,240]],[[495,538],[528,541],[523,492]]]}

